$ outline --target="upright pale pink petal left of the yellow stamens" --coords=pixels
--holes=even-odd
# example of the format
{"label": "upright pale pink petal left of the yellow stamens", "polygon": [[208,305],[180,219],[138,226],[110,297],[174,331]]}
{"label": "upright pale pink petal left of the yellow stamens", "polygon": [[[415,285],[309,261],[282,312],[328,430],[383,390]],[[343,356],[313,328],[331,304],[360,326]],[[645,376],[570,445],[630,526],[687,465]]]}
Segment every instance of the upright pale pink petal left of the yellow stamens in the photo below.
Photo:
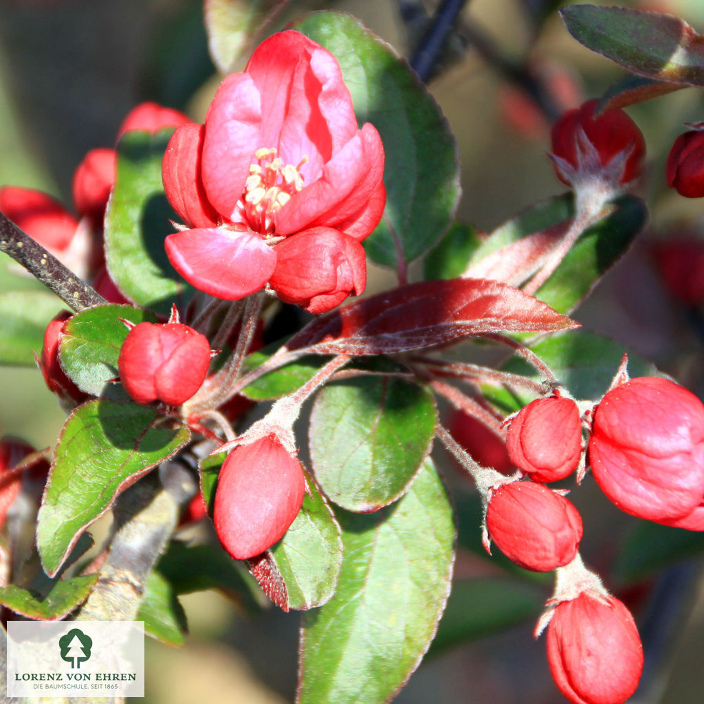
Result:
{"label": "upright pale pink petal left of the yellow stamens", "polygon": [[262,144],[259,92],[246,73],[225,78],[206,115],[201,177],[208,200],[232,220],[254,152]]}

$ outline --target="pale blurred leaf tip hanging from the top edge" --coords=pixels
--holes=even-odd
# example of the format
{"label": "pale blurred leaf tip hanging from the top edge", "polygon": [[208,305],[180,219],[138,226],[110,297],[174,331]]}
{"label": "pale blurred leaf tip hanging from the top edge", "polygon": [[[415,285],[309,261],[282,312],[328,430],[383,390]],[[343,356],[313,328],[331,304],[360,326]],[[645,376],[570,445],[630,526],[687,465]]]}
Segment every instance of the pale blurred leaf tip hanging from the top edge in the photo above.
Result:
{"label": "pale blurred leaf tip hanging from the top edge", "polygon": [[206,0],[208,49],[220,73],[232,73],[280,0]]}

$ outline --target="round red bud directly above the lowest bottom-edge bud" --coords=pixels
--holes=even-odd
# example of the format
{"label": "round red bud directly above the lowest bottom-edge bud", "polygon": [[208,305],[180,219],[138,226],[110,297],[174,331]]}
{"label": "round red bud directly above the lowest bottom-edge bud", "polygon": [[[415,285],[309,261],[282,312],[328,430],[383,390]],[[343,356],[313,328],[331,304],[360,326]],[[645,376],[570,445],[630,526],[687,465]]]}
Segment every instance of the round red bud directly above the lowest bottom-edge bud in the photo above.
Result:
{"label": "round red bud directly above the lowest bottom-edge bud", "polygon": [[582,539],[582,517],[570,501],[536,482],[501,484],[491,492],[486,529],[507,558],[534,572],[567,565]]}

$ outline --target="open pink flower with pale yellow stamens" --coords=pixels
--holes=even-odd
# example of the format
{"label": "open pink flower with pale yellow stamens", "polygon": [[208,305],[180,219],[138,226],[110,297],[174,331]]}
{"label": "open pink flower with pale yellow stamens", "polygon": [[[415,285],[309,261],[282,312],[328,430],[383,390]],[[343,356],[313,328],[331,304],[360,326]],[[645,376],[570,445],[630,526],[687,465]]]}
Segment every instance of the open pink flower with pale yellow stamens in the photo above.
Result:
{"label": "open pink flower with pale yellow stamens", "polygon": [[189,229],[166,238],[168,257],[201,291],[243,298],[272,277],[283,238],[320,227],[367,237],[384,210],[383,173],[379,133],[358,129],[337,60],[280,32],[222,82],[205,125],[182,125],[169,142],[164,187]]}

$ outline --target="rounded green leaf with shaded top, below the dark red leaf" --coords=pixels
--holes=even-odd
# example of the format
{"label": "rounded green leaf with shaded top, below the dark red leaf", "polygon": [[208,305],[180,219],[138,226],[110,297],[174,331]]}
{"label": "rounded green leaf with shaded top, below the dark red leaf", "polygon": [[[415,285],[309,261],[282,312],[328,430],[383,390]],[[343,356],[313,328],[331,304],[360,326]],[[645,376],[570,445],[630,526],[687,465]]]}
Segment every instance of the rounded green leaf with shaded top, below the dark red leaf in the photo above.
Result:
{"label": "rounded green leaf with shaded top, below the dark red leaf", "polygon": [[406,379],[358,377],[327,384],[310,416],[310,460],[326,496],[348,510],[396,501],[430,451],[432,394]]}

